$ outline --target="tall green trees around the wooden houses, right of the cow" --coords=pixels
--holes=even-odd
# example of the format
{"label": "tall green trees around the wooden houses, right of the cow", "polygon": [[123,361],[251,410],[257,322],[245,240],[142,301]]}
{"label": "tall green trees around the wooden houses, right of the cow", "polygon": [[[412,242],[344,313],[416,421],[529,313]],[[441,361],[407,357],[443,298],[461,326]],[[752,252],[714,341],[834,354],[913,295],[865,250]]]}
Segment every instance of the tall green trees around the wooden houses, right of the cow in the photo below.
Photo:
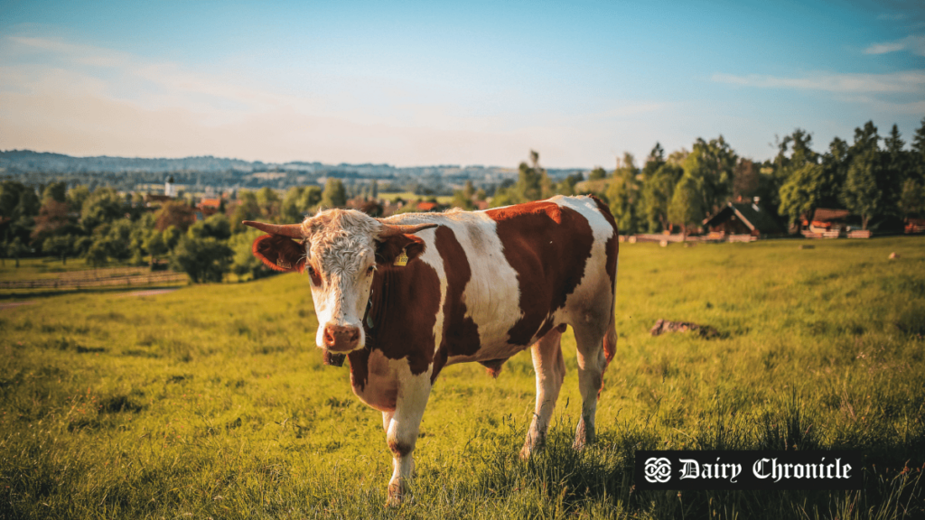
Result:
{"label": "tall green trees around the wooden houses, right of the cow", "polygon": [[835,137],[822,152],[813,150],[807,130],[796,129],[764,162],[736,154],[722,135],[671,154],[657,142],[641,167],[627,153],[610,173],[598,167],[584,182],[579,175],[558,183],[531,152],[518,180],[502,185],[492,205],[592,192],[609,204],[621,233],[635,234],[688,232],[727,202],[757,200],[783,229],[811,220],[820,207],[847,209],[869,229],[925,217],[925,118],[910,144],[896,125],[881,137],[872,121],[855,129],[853,142]]}

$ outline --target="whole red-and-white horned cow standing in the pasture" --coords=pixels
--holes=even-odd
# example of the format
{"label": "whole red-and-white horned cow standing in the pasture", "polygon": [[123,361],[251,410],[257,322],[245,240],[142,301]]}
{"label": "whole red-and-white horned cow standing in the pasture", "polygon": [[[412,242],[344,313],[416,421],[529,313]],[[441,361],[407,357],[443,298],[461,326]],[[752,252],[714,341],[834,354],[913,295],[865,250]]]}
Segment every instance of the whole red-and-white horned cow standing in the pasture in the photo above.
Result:
{"label": "whole red-and-white horned cow standing in the pasture", "polygon": [[573,328],[582,412],[574,448],[595,437],[604,369],[616,346],[617,226],[593,196],[556,196],[486,211],[369,217],[330,209],[265,231],[253,254],[307,273],[326,359],[346,354],[353,392],[382,412],[393,473],[388,505],[413,474],[430,390],[444,366],[478,362],[497,377],[530,348],[536,408],[520,455],[543,446]]}

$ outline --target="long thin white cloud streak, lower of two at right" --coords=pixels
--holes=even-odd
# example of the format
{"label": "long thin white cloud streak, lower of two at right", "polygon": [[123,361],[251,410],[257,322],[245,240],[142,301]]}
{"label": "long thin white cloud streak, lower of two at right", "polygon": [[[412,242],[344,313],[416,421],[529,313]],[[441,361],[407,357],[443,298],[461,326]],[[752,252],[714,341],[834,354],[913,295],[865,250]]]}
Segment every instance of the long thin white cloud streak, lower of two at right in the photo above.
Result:
{"label": "long thin white cloud streak, lower of two at right", "polygon": [[832,93],[915,93],[925,94],[925,70],[889,74],[815,73],[804,78],[781,78],[749,74],[713,74],[713,81],[767,89],[795,89]]}

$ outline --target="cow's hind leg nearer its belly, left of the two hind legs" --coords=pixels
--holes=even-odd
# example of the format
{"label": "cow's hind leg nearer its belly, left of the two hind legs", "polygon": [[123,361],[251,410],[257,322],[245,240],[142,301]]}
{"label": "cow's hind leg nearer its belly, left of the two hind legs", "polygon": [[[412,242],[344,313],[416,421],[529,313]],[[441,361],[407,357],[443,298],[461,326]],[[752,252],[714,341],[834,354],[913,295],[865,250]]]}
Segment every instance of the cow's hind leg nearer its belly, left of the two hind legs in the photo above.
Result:
{"label": "cow's hind leg nearer its belly, left of the two hind legs", "polygon": [[524,448],[520,453],[523,459],[528,458],[537,448],[541,448],[546,441],[549,419],[556,407],[556,400],[559,399],[562,378],[565,377],[565,363],[562,361],[560,348],[564,328],[553,328],[530,348],[536,372],[536,409],[533,422],[526,433]]}

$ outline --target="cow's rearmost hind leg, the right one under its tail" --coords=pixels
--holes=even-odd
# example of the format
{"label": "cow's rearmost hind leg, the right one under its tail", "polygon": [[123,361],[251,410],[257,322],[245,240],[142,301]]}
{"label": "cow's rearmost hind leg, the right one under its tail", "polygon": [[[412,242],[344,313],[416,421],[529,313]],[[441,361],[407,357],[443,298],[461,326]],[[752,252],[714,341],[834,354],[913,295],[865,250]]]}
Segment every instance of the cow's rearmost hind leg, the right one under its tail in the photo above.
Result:
{"label": "cow's rearmost hind leg, the right one under its tail", "polygon": [[578,388],[581,390],[581,418],[575,429],[574,448],[580,450],[594,442],[594,416],[598,411],[598,392],[604,382],[604,334],[606,330],[586,324],[574,327],[578,347]]}

